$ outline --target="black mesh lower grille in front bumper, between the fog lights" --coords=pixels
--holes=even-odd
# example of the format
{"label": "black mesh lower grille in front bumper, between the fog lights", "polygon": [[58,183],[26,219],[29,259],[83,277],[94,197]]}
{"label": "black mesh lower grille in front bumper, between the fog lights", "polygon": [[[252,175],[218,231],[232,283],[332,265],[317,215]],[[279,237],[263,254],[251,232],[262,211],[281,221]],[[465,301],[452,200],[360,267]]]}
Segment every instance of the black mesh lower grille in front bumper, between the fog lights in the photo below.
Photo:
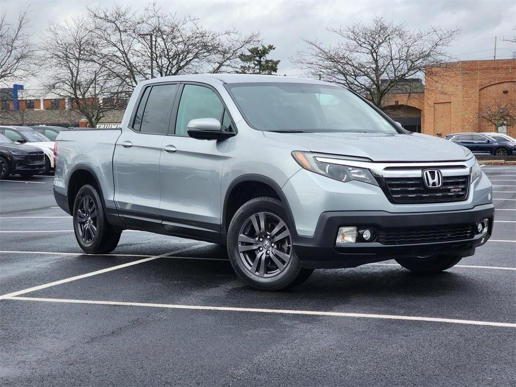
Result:
{"label": "black mesh lower grille in front bumper, between the fog lights", "polygon": [[378,233],[378,241],[383,245],[407,245],[471,239],[474,236],[475,224],[449,224],[383,229]]}

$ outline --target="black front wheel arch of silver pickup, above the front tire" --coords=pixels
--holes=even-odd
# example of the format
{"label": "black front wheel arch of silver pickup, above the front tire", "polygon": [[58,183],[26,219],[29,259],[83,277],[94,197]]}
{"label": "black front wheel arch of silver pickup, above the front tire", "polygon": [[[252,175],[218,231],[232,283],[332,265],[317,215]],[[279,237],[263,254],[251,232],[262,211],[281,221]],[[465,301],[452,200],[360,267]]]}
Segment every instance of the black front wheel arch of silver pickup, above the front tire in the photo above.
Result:
{"label": "black front wheel arch of silver pickup, above the front tire", "polygon": [[[249,195],[247,192],[253,187],[258,189],[252,191],[251,195]],[[244,193],[244,195],[240,195],[241,193]],[[220,228],[223,241],[225,241],[227,238],[229,223],[238,208],[240,208],[240,206],[248,200],[260,196],[272,196],[281,201],[285,207],[288,222],[291,225],[291,233],[297,235],[292,209],[288,204],[288,201],[281,187],[267,176],[259,174],[246,174],[238,176],[238,178],[234,179],[225,192],[224,203],[222,206],[222,224]],[[232,203],[231,201],[235,197],[237,197],[238,200]]]}

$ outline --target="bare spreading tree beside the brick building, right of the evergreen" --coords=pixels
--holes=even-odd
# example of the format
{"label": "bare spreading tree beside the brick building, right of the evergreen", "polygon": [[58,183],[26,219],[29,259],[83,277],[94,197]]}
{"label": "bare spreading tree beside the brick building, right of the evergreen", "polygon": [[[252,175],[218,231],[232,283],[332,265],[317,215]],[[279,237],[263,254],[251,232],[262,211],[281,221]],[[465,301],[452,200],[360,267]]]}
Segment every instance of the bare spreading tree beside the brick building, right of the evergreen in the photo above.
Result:
{"label": "bare spreading tree beside the brick building, right of the evergreen", "polygon": [[304,40],[308,49],[298,51],[292,60],[308,75],[349,87],[380,108],[401,80],[421,77],[427,67],[450,60],[446,47],[460,32],[438,27],[412,31],[406,24],[381,18],[371,25],[356,23],[329,30],[340,37],[338,43]]}

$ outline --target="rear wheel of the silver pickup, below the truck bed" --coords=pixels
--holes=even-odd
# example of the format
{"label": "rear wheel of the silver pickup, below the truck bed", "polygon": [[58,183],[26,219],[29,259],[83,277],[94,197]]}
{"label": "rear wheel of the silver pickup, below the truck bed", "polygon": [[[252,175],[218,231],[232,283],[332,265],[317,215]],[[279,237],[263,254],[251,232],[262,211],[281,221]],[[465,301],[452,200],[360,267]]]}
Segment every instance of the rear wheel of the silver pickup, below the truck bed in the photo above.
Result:
{"label": "rear wheel of the silver pickup, below the truck bed", "polygon": [[73,205],[73,230],[80,248],[88,254],[107,254],[120,240],[120,232],[107,222],[98,188],[79,189]]}

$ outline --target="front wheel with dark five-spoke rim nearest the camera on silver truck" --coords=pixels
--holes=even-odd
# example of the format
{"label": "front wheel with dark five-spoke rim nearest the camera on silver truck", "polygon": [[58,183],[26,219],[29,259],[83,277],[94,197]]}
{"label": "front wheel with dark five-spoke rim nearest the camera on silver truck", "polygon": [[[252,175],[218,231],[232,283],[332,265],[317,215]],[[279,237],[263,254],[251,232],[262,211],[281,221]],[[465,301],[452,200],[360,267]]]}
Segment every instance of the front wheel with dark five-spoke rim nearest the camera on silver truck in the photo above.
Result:
{"label": "front wheel with dark five-spoke rim nearest the camera on silver truck", "polygon": [[301,267],[290,230],[279,200],[261,197],[244,203],[228,230],[228,255],[237,275],[263,291],[278,291],[306,281],[313,269]]}

